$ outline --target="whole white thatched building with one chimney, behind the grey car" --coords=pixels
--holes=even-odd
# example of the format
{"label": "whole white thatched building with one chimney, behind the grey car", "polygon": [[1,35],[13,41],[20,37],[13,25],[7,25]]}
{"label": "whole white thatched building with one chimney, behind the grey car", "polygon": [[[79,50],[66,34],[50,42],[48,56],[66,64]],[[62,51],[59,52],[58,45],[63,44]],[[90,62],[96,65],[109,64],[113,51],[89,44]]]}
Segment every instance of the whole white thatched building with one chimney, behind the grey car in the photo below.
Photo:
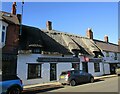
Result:
{"label": "whole white thatched building with one chimney, behind the grey car", "polygon": [[103,75],[98,58],[103,54],[92,40],[53,30],[50,21],[46,26],[46,30],[22,26],[17,74],[24,85],[58,81],[62,71],[72,68]]}

